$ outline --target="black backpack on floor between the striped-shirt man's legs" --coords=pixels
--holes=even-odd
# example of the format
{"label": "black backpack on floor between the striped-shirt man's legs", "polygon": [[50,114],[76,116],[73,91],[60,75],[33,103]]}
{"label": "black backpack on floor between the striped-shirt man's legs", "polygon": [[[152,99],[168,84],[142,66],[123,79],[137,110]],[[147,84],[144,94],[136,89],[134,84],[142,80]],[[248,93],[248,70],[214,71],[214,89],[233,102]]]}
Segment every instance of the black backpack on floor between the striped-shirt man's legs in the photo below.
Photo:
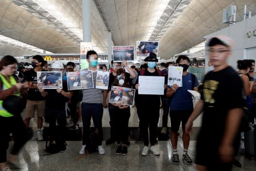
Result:
{"label": "black backpack on floor between the striped-shirt man's legs", "polygon": [[86,141],[85,152],[86,153],[97,152],[99,144],[100,144],[100,135],[98,134],[98,129],[92,127],[90,128],[89,138]]}

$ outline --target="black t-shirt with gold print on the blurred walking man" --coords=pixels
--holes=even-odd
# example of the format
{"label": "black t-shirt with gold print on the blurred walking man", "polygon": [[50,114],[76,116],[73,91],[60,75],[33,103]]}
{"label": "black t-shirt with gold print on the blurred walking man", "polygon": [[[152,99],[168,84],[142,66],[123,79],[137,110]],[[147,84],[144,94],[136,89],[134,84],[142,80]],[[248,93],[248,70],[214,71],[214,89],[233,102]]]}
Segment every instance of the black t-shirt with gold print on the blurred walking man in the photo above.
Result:
{"label": "black t-shirt with gold print on the blurred walking man", "polygon": [[204,114],[199,140],[207,139],[208,147],[221,143],[230,109],[242,108],[242,80],[232,67],[210,71],[203,82]]}

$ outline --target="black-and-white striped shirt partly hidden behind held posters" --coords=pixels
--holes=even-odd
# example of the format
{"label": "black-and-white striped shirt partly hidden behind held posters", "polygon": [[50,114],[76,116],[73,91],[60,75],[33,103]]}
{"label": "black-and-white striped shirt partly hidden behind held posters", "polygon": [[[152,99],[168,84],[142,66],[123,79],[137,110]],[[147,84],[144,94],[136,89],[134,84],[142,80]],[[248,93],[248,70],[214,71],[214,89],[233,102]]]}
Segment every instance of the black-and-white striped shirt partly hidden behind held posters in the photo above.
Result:
{"label": "black-and-white striped shirt partly hidden behind held posters", "polygon": [[[84,69],[83,71],[87,71],[88,69]],[[93,74],[93,87],[88,89],[82,89],[82,102],[90,103],[90,104],[101,104],[102,103],[102,89],[96,88],[96,78],[97,72],[92,71]]]}

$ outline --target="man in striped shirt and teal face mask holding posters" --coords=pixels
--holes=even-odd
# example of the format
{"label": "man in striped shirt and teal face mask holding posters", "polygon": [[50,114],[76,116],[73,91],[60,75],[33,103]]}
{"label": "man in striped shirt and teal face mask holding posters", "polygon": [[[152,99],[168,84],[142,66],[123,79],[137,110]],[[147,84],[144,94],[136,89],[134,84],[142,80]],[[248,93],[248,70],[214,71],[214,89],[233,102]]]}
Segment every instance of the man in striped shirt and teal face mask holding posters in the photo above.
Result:
{"label": "man in striped shirt and teal face mask holding posters", "polygon": [[86,54],[87,62],[89,63],[88,69],[91,70],[93,74],[93,84],[94,88],[83,89],[82,90],[82,148],[80,154],[85,153],[86,141],[89,138],[90,130],[90,120],[93,118],[94,127],[98,129],[98,134],[100,135],[100,142],[98,145],[98,153],[100,155],[105,154],[105,149],[102,146],[102,114],[103,108],[108,108],[106,105],[106,96],[108,91],[102,89],[96,89],[96,77],[97,77],[97,65],[98,65],[98,55],[94,50],[89,50]]}

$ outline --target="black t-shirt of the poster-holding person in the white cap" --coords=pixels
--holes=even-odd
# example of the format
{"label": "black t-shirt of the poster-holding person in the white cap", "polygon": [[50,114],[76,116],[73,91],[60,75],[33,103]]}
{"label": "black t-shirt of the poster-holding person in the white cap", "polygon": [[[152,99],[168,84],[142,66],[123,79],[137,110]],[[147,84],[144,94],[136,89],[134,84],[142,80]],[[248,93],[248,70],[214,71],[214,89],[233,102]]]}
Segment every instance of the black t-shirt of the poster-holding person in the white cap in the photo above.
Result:
{"label": "black t-shirt of the poster-holding person in the white cap", "polygon": [[[67,82],[62,80],[63,91],[68,92]],[[49,109],[65,109],[65,103],[68,101],[68,97],[63,96],[61,93],[58,93],[56,89],[44,89],[48,92],[46,98],[46,106]]]}

